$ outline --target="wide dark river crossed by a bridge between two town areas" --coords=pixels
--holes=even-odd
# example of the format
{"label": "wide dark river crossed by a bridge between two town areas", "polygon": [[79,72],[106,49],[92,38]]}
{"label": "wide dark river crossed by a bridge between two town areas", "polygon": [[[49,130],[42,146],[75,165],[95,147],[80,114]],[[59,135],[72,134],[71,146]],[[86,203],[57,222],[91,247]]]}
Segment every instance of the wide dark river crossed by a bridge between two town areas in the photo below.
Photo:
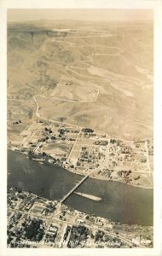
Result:
{"label": "wide dark river crossed by a bridge between two town areas", "polygon": [[[48,162],[36,160],[8,150],[8,185],[31,191],[49,200],[60,200],[82,176]],[[153,225],[153,189],[142,189],[124,183],[88,178],[76,190],[95,195],[94,201],[72,193],[64,203],[81,212],[95,213],[122,224]]]}

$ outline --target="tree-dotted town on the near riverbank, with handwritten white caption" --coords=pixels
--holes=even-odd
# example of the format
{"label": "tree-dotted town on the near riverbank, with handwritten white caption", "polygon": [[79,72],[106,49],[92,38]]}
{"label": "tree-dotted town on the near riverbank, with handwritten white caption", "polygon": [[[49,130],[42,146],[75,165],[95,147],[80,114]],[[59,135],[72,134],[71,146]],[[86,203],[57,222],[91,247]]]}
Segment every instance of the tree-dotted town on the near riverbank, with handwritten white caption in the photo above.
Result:
{"label": "tree-dotted town on the near riverbank, with handwritten white caption", "polygon": [[153,227],[119,224],[8,187],[8,247],[153,247]]}

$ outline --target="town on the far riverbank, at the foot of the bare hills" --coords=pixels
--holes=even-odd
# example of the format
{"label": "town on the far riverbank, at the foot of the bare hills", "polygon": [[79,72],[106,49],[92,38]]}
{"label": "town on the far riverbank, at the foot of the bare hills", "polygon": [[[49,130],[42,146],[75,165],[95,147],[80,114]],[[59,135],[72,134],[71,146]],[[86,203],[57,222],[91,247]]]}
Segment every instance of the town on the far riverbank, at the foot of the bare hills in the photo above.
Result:
{"label": "town on the far riverbank, at the foot of the bare hills", "polygon": [[84,176],[153,188],[153,138],[125,141],[103,131],[38,119],[20,132],[18,141],[9,137],[8,147]]}

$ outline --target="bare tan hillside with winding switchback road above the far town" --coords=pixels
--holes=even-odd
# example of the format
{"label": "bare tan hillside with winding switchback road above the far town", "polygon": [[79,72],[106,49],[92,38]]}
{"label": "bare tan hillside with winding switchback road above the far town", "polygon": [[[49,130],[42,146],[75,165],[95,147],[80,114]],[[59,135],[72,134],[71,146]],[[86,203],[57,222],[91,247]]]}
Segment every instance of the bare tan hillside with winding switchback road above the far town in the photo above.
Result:
{"label": "bare tan hillside with winding switchback road above the far town", "polygon": [[37,119],[34,96],[43,118],[152,137],[153,24],[9,23],[9,136]]}

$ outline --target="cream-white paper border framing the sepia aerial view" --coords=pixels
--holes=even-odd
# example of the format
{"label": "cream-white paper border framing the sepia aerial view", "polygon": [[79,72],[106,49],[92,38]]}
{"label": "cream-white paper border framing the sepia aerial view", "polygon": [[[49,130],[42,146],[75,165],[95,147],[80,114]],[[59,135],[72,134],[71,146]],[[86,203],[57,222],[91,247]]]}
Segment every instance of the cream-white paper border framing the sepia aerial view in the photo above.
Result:
{"label": "cream-white paper border framing the sepia aerial view", "polygon": [[[63,249],[63,248],[7,248],[7,10],[8,9],[153,9],[154,65],[153,65],[153,248],[130,249]],[[0,255],[19,256],[44,254],[63,255],[162,255],[162,1],[160,0],[0,0]]]}

